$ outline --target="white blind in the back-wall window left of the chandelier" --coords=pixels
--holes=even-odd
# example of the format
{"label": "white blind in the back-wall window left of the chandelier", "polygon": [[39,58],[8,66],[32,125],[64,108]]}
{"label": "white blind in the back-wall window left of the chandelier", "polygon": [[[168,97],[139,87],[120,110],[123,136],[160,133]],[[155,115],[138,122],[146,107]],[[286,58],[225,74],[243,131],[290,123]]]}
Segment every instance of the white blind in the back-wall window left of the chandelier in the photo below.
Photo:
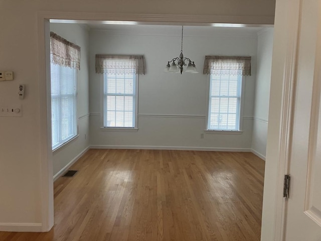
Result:
{"label": "white blind in the back-wall window left of the chandelier", "polygon": [[[130,66],[132,60],[117,60],[117,62],[117,66]],[[136,74],[134,69],[125,72],[108,69],[103,76],[104,127],[135,128]]]}

